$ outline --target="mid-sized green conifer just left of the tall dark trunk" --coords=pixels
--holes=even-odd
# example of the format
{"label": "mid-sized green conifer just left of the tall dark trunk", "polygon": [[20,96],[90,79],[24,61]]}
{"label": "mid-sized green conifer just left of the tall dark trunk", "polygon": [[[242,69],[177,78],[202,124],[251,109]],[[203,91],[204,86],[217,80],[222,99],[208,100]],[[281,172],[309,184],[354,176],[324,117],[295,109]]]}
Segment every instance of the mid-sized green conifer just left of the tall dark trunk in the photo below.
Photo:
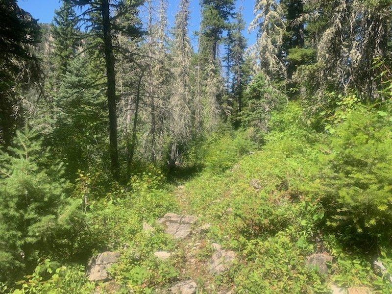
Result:
{"label": "mid-sized green conifer just left of the tall dark trunk", "polygon": [[78,170],[96,173],[105,164],[106,100],[96,87],[97,74],[84,57],[74,59],[56,95],[54,129],[46,144],[66,165],[66,176]]}

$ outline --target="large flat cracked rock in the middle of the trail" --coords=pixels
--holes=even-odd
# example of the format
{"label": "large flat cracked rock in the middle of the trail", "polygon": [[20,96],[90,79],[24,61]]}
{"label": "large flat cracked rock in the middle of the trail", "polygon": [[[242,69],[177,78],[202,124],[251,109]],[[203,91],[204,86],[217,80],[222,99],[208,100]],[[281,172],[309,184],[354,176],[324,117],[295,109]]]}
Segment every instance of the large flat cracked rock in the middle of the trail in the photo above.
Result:
{"label": "large flat cracked rock in the middle of the trail", "polygon": [[158,223],[165,226],[165,232],[176,239],[183,239],[191,233],[191,226],[197,221],[194,216],[180,216],[168,213],[158,220]]}

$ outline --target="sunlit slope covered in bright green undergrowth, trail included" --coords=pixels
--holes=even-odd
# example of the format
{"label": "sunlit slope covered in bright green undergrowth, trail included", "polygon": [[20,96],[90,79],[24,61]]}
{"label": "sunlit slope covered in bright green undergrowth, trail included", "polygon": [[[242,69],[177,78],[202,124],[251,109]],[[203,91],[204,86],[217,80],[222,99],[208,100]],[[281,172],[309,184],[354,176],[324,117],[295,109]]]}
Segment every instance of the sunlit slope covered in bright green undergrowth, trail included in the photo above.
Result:
{"label": "sunlit slope covered in bright green undergrowth, trail included", "polygon": [[[23,287],[166,293],[188,281],[190,292],[179,293],[390,293],[391,248],[378,233],[388,215],[373,189],[390,187],[381,172],[392,164],[392,116],[358,107],[333,134],[314,131],[302,117],[291,102],[273,114],[264,145],[252,141],[252,129],[221,133],[198,151],[204,168],[187,179],[170,184],[151,170],[92,202],[87,219],[100,252],[121,254],[110,282],[95,286],[84,267],[46,260]],[[355,177],[344,169],[356,170]],[[363,200],[350,200],[352,187]],[[167,215],[172,224],[191,218],[188,228],[167,234],[167,222],[157,220],[168,213],[193,217]]]}

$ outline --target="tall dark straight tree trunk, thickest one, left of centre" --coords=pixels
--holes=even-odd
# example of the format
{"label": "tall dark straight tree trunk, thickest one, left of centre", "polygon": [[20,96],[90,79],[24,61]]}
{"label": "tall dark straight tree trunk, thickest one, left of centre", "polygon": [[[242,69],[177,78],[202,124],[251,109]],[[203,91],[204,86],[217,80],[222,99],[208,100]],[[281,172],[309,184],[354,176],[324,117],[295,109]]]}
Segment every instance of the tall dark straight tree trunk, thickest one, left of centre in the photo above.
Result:
{"label": "tall dark straight tree trunk, thickest one, left of centre", "polygon": [[113,179],[119,181],[120,167],[117,146],[116,72],[114,70],[115,60],[113,55],[113,44],[111,36],[109,0],[101,0],[101,10],[107,75],[107,101],[109,107],[110,160]]}

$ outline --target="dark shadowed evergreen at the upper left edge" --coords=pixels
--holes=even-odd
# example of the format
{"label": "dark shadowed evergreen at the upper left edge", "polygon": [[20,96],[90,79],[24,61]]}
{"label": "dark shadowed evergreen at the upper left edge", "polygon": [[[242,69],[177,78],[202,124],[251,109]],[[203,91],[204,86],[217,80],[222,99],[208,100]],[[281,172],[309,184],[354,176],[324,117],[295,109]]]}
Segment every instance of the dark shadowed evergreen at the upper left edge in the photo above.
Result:
{"label": "dark shadowed evergreen at the upper left edge", "polygon": [[[41,76],[31,47],[40,40],[37,21],[16,0],[0,1],[0,146],[8,146],[21,123],[17,94]],[[16,111],[19,109],[18,111]]]}

